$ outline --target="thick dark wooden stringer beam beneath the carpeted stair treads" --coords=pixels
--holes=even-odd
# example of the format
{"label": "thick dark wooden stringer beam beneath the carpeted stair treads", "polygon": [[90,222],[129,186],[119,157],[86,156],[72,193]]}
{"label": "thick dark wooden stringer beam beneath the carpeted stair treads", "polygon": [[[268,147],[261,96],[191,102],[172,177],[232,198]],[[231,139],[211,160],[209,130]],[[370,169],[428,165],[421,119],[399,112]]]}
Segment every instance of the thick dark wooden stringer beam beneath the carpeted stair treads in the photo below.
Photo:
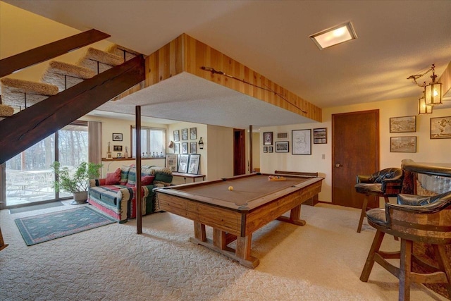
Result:
{"label": "thick dark wooden stringer beam beneath the carpeted stair treads", "polygon": [[142,82],[144,71],[136,56],[0,121],[0,164]]}

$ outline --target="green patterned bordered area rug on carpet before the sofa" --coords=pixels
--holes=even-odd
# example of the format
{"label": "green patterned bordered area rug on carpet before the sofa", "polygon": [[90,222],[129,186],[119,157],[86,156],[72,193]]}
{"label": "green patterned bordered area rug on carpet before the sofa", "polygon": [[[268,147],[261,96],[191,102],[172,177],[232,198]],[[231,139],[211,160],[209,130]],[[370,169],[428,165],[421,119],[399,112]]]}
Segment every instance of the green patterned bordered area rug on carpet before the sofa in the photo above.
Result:
{"label": "green patterned bordered area rug on carpet before the sofa", "polygon": [[109,216],[104,216],[88,206],[23,217],[14,221],[27,245],[36,245],[115,222]]}

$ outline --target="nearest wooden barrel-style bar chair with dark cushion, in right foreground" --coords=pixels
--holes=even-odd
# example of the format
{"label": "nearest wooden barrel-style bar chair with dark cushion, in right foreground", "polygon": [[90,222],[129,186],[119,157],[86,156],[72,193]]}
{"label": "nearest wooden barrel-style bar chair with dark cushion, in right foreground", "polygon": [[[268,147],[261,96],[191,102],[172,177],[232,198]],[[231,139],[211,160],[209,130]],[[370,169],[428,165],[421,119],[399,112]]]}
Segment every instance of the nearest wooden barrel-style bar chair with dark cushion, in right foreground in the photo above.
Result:
{"label": "nearest wooden barrel-style bar chair with dark cushion, in right foreground", "polygon": [[[368,281],[374,262],[400,281],[399,300],[409,300],[411,283],[447,283],[451,297],[451,265],[445,245],[451,244],[451,191],[432,197],[400,194],[397,204],[385,204],[366,212],[368,223],[376,228],[373,244],[360,280]],[[385,233],[400,238],[399,252],[380,251]],[[414,242],[432,245],[438,266],[431,266],[416,256]],[[400,259],[395,266],[386,259]],[[412,264],[421,266],[421,273],[412,271]],[[423,272],[424,271],[424,272]]]}

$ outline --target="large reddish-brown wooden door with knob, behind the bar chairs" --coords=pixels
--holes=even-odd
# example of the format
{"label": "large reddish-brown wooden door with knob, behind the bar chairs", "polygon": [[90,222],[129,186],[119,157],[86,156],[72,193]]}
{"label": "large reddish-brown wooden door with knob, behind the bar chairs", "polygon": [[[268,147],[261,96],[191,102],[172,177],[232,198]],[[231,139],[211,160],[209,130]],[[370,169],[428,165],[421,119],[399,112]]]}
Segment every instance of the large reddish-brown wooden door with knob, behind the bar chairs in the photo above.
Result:
{"label": "large reddish-brown wooden door with knob, behind the bar chairs", "polygon": [[[362,208],[357,175],[379,170],[379,110],[332,115],[332,203]],[[376,208],[376,199],[369,199]]]}

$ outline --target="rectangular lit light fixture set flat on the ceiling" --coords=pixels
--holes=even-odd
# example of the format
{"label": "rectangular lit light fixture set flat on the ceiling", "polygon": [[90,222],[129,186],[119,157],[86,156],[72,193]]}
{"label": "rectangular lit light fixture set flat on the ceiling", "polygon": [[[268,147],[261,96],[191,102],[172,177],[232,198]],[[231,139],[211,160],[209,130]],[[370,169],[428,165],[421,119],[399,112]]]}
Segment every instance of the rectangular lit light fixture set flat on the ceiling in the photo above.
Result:
{"label": "rectangular lit light fixture set flat on the ceiling", "polygon": [[357,35],[355,34],[354,27],[352,27],[352,23],[347,22],[311,35],[310,39],[322,50],[336,44],[357,39]]}

